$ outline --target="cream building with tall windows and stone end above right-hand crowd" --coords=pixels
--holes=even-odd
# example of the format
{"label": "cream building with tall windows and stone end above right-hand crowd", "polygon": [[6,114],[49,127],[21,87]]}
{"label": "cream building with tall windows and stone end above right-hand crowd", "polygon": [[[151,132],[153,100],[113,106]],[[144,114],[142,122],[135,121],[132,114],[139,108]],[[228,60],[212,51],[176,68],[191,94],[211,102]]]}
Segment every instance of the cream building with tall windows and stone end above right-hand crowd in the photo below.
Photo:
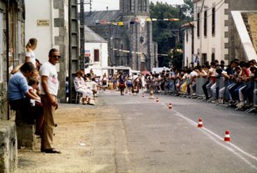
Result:
{"label": "cream building with tall windows and stone end above right-hand crowd", "polygon": [[[194,22],[184,27],[184,65],[256,59],[256,0],[194,0]],[[185,25],[187,26],[187,25]],[[192,42],[193,40],[193,42]],[[192,47],[192,49],[188,49]]]}

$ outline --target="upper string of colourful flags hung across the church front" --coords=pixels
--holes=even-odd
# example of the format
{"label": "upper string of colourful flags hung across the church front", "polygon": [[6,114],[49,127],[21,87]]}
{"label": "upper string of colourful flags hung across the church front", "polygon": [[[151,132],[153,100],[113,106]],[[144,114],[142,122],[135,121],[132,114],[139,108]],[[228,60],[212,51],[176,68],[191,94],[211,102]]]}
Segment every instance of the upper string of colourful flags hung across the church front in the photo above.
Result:
{"label": "upper string of colourful flags hung across the church front", "polygon": [[176,22],[180,21],[178,18],[170,18],[170,19],[155,19],[155,18],[146,18],[146,19],[139,19],[139,17],[135,17],[133,21],[130,22],[107,22],[104,19],[101,19],[100,22],[97,22],[95,24],[112,24],[112,25],[117,25],[117,26],[123,26],[124,24],[134,24],[134,23],[140,23],[140,24],[145,24],[145,22],[155,22],[155,21],[170,21],[170,22]]}

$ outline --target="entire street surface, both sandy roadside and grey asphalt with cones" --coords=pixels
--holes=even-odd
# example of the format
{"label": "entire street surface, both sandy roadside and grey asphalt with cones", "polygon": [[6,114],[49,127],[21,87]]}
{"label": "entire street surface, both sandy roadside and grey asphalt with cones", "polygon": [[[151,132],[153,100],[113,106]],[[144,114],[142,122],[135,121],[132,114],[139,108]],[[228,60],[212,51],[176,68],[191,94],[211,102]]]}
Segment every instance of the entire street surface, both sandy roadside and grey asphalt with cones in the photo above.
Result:
{"label": "entire street surface, both sandy roadside and grey asphalt with cones", "polygon": [[54,143],[63,154],[20,150],[18,172],[257,172],[256,115],[156,97],[107,90],[95,107],[62,104]]}

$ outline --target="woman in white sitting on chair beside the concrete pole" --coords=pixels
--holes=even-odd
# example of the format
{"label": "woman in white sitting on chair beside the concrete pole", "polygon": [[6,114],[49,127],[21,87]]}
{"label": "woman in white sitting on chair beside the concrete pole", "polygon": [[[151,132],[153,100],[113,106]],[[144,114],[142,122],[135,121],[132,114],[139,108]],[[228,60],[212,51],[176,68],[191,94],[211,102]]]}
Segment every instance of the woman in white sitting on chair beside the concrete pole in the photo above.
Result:
{"label": "woman in white sitting on chair beside the concrete pole", "polygon": [[93,92],[86,87],[85,81],[82,78],[81,71],[77,71],[77,77],[74,79],[75,90],[83,95],[82,104],[91,104],[91,98],[93,98]]}

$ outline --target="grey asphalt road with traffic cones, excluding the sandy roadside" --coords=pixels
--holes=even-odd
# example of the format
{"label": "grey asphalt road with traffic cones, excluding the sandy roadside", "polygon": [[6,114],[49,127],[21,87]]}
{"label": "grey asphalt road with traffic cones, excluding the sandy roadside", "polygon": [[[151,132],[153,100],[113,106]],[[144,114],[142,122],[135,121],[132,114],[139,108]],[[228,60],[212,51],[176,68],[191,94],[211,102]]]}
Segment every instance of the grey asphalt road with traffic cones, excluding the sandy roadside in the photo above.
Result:
{"label": "grey asphalt road with traffic cones, excluding the sandy roadside", "polygon": [[117,172],[257,172],[256,115],[172,96],[155,96],[159,103],[148,94],[100,97],[122,120],[114,129]]}

